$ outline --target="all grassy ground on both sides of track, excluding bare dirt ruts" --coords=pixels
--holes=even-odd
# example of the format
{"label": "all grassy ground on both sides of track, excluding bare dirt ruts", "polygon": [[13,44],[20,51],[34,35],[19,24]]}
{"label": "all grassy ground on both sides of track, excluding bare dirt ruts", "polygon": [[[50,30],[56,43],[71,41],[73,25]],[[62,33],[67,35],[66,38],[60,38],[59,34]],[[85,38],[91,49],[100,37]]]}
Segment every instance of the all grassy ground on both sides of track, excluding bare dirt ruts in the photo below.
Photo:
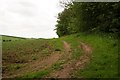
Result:
{"label": "all grassy ground on both sides of track, excluding bare dirt ruts", "polygon": [[[6,39],[6,37],[3,36],[3,39]],[[49,58],[51,55],[65,54],[63,41],[66,41],[70,44],[70,53],[72,54],[70,60],[73,61],[79,60],[80,56],[84,54],[82,48],[79,48],[80,42],[89,44],[92,47],[90,61],[84,66],[84,69],[75,69],[71,73],[71,77],[118,77],[118,40],[109,36],[95,34],[87,35],[79,33],[57,39],[16,39],[17,41],[13,40],[13,38],[7,37],[7,40],[11,41],[3,42],[3,77],[13,75],[16,73],[16,71],[22,70],[28,65],[34,65],[33,63],[37,62],[38,60],[40,62],[42,60],[49,60],[47,57]],[[50,73],[61,70],[63,68],[62,65],[69,62],[66,57],[67,56],[63,56],[62,58],[58,59],[48,68],[40,68],[40,70],[28,73],[26,71],[23,76],[18,77],[51,77],[49,75]]]}

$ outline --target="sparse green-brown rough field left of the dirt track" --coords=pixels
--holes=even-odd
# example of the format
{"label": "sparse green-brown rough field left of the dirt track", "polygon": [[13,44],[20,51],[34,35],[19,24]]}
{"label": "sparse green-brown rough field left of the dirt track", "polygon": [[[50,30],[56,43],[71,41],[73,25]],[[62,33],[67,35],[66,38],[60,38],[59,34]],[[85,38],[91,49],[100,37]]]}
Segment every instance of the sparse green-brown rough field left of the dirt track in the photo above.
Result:
{"label": "sparse green-brown rough field left of the dirt track", "polygon": [[53,47],[53,45],[49,44],[49,40],[45,39],[3,42],[2,59],[6,73],[21,69],[21,66],[26,63],[29,64],[38,59],[42,60],[54,51]]}

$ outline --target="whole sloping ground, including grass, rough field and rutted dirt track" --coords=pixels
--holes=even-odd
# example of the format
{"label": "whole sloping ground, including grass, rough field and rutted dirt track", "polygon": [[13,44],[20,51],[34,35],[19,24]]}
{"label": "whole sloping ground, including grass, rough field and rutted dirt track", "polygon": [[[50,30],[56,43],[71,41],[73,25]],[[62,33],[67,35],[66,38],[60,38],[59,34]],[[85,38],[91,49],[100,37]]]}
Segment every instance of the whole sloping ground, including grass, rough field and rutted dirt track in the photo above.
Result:
{"label": "whole sloping ground, including grass, rough field and rutted dirt track", "polygon": [[117,39],[79,33],[3,42],[3,77],[118,77]]}

